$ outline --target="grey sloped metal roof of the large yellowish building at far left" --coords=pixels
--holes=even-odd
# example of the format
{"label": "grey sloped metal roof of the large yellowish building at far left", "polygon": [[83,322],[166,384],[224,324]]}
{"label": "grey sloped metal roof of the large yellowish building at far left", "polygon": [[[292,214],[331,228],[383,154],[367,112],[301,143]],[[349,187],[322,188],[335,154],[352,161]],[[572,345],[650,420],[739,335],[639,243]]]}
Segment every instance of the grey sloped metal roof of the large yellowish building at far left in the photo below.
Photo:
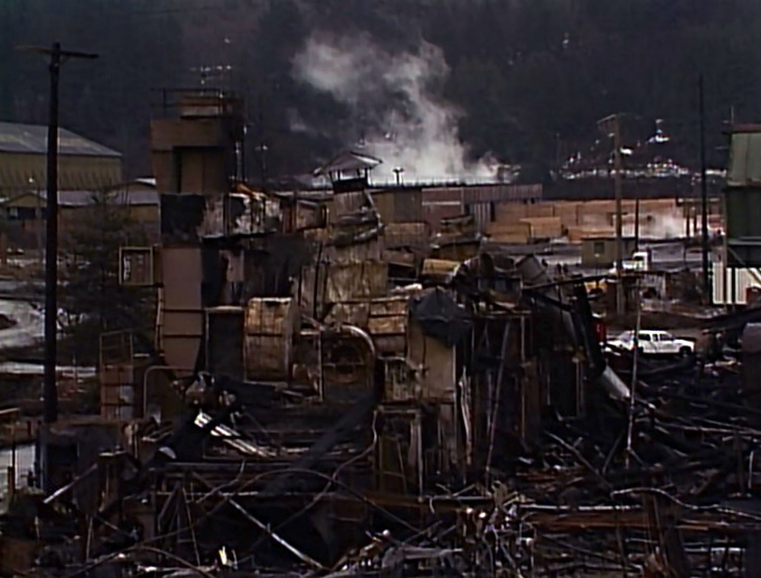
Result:
{"label": "grey sloped metal roof of the large yellowish building at far left", "polygon": [[[75,135],[66,129],[58,130],[59,154],[88,157],[121,157],[110,148]],[[0,152],[46,154],[47,126],[0,122]]]}

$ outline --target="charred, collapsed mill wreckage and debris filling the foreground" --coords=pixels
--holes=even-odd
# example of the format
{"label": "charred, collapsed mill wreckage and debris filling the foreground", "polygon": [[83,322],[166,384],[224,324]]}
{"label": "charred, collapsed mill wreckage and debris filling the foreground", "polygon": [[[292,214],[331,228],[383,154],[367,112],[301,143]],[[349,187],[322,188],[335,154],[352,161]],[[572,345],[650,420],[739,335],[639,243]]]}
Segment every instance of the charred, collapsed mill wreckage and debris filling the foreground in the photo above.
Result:
{"label": "charred, collapsed mill wreckage and debris filling the foreground", "polygon": [[466,218],[431,246],[358,155],[324,198],[231,192],[236,101],[178,104],[161,246],[120,256],[154,339],[103,335],[100,418],[40,433],[6,575],[759,575],[736,366],[607,358],[583,278]]}

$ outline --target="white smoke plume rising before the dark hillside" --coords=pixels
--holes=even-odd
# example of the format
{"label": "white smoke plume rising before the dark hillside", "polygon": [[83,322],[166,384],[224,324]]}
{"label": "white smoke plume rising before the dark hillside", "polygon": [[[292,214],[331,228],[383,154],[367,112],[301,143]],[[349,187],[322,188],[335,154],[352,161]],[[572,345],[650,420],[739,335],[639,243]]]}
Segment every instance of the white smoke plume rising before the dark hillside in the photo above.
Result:
{"label": "white smoke plume rising before the dark hillside", "polygon": [[[293,59],[293,75],[349,106],[358,150],[383,164],[376,180],[494,179],[495,160],[468,160],[457,121],[462,112],[436,97],[449,74],[438,46],[391,54],[367,35],[312,35]],[[352,148],[358,148],[355,145]]]}

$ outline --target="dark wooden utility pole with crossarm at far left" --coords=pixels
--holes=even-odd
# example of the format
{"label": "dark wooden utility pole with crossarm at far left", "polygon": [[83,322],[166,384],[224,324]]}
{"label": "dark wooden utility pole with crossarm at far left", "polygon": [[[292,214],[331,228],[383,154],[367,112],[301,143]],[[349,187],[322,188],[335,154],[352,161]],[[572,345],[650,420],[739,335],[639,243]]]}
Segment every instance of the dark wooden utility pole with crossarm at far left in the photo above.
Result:
{"label": "dark wooden utility pole with crossarm at far left", "polygon": [[95,59],[97,54],[62,50],[60,43],[50,48],[19,46],[26,52],[49,56],[50,106],[47,135],[47,198],[45,243],[45,383],[43,386],[46,424],[58,419],[56,389],[56,338],[58,330],[58,97],[61,65],[70,58]]}

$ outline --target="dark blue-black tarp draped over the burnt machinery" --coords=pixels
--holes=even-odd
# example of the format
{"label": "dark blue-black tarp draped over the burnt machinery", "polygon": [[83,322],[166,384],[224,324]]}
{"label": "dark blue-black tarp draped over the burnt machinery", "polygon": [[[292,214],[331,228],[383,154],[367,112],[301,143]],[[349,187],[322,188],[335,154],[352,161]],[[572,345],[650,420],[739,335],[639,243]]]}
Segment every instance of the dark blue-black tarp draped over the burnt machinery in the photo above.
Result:
{"label": "dark blue-black tarp draped over the burnt machinery", "polygon": [[447,347],[457,345],[470,332],[470,313],[439,287],[412,303],[412,319],[420,324],[425,335]]}

